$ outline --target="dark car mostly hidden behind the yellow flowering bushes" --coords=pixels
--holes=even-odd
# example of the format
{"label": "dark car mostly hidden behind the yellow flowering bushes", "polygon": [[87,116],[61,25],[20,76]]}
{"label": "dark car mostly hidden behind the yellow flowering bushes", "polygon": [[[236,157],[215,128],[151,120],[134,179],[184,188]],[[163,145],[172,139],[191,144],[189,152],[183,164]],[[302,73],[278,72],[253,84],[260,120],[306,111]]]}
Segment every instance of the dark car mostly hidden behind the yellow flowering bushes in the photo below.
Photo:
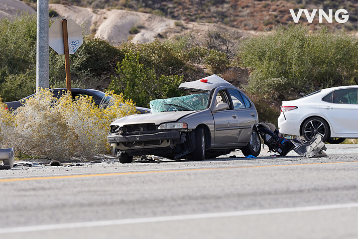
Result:
{"label": "dark car mostly hidden behind the yellow flowering bushes", "polygon": [[[63,92],[66,92],[66,88],[53,88],[50,89],[54,95],[54,97],[56,98],[60,98]],[[95,103],[98,105],[101,100],[104,98],[105,101],[110,100],[111,97],[110,96],[105,96],[105,93],[99,90],[95,90],[95,89],[79,89],[79,88],[72,88],[72,98],[75,99],[76,96],[92,96],[92,98],[95,100]],[[12,101],[12,102],[5,102],[8,105],[9,109],[15,110],[18,107],[22,106],[25,103],[25,100],[34,96],[35,94],[29,95],[23,99],[20,99],[18,101]],[[150,109],[149,108],[144,108],[144,107],[136,107],[137,110],[140,113],[150,113]]]}

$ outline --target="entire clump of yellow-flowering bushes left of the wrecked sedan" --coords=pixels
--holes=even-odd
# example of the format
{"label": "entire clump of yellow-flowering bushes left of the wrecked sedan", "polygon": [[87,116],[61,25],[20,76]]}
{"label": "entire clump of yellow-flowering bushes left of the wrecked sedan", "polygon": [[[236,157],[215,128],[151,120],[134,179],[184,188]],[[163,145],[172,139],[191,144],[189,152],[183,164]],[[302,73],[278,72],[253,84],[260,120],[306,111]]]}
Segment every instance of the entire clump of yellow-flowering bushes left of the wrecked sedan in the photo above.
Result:
{"label": "entire clump of yellow-flowering bushes left of the wrecked sedan", "polygon": [[15,152],[51,159],[71,156],[93,158],[110,150],[106,136],[109,125],[117,118],[136,113],[132,100],[123,95],[106,93],[107,100],[97,106],[88,96],[72,99],[70,93],[59,99],[48,90],[26,100],[24,106],[10,113],[0,105],[0,129],[13,127],[5,139],[0,132],[0,143],[15,146]]}

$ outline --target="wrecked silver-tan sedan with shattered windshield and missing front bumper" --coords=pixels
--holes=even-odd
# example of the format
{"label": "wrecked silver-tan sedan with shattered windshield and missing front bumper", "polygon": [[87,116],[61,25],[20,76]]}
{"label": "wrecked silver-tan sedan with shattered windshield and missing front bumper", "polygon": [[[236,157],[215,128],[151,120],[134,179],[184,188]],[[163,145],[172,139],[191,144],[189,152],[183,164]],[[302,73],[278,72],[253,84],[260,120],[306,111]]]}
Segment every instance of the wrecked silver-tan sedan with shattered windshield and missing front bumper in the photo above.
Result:
{"label": "wrecked silver-tan sedan with shattered windshield and missing front bumper", "polygon": [[189,95],[150,101],[151,113],[120,118],[110,125],[107,141],[121,163],[133,156],[156,155],[194,161],[241,149],[261,151],[254,103],[217,75],[180,84]]}

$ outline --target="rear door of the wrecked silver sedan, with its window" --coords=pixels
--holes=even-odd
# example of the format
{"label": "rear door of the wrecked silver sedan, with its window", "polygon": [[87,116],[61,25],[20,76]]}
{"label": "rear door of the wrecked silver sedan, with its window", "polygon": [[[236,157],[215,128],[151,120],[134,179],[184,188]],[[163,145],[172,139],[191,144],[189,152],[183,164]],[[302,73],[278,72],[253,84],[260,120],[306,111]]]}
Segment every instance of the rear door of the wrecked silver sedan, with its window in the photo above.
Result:
{"label": "rear door of the wrecked silver sedan, with its window", "polygon": [[255,124],[256,110],[250,100],[236,89],[228,89],[238,123],[238,142],[250,142],[251,129]]}

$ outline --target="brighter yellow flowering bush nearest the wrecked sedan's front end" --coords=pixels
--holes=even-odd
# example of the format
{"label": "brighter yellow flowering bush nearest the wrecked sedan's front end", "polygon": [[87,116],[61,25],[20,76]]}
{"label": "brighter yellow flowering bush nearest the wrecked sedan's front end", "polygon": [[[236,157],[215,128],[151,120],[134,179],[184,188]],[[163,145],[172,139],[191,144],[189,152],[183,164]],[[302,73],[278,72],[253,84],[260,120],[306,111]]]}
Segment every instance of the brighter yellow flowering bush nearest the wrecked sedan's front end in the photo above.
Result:
{"label": "brighter yellow flowering bush nearest the wrecked sedan's front end", "polygon": [[72,126],[79,136],[80,147],[76,155],[92,157],[110,150],[107,143],[109,125],[117,118],[136,113],[132,100],[125,100],[123,95],[106,93],[106,98],[97,106],[92,97],[79,96],[72,100],[69,94],[62,96],[58,107],[69,126]]}

